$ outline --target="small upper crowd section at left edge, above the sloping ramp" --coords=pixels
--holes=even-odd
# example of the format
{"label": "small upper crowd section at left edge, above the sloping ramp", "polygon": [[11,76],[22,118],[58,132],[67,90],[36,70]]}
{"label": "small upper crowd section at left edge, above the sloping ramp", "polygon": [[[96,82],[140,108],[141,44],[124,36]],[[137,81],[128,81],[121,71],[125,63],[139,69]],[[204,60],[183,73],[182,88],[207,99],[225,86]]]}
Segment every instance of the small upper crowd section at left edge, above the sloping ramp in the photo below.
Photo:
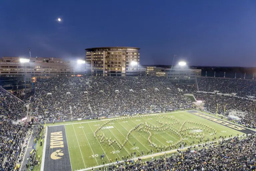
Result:
{"label": "small upper crowd section at left edge, above the sloping ramp", "polygon": [[19,120],[26,115],[27,108],[24,103],[0,90],[0,116],[11,120]]}

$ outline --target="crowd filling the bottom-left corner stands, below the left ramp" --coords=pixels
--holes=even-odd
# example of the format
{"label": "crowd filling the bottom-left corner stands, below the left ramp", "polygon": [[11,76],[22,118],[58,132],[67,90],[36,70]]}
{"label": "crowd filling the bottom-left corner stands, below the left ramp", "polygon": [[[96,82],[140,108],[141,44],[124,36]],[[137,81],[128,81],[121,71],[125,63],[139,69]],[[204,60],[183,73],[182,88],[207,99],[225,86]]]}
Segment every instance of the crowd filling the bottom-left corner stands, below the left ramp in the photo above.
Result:
{"label": "crowd filling the bottom-left corner stands, below the left ramp", "polygon": [[21,152],[24,153],[24,140],[30,129],[28,124],[14,124],[0,118],[0,170],[10,171],[20,166]]}

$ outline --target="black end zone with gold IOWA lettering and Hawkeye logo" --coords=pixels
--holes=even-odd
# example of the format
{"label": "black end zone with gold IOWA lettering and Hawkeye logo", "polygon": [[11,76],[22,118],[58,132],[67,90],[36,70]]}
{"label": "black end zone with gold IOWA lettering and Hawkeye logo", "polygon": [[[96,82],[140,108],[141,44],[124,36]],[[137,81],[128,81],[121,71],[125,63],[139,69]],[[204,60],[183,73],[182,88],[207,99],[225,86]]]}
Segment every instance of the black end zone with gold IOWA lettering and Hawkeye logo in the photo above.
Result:
{"label": "black end zone with gold IOWA lettering and Hawkeye logo", "polygon": [[49,170],[72,170],[64,125],[48,127],[45,148],[44,171]]}

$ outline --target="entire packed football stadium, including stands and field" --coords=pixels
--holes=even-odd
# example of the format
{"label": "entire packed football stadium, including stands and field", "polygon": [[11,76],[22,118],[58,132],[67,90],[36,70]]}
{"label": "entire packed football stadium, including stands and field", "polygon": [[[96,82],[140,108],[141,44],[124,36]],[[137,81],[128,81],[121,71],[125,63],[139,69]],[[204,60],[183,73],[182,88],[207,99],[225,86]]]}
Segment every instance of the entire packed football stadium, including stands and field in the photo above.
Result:
{"label": "entire packed football stadium, including stands and field", "polygon": [[[229,84],[237,86],[225,89]],[[39,77],[24,104],[26,97],[1,87],[0,125],[8,130],[2,170],[250,170],[256,102],[230,93],[251,84],[256,87],[254,80],[211,77],[198,77],[194,86],[148,76]]]}

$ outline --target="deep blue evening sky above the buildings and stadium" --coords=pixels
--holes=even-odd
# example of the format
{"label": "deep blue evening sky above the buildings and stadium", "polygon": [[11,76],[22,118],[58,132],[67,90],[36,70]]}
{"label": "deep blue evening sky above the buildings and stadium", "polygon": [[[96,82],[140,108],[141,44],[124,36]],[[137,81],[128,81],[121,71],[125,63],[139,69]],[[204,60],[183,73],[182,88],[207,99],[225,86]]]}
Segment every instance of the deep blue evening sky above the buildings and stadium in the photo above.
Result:
{"label": "deep blue evening sky above the buildings and stadium", "polygon": [[[62,23],[56,22],[61,17]],[[84,57],[141,48],[141,64],[256,66],[256,1],[2,0],[0,56]]]}

